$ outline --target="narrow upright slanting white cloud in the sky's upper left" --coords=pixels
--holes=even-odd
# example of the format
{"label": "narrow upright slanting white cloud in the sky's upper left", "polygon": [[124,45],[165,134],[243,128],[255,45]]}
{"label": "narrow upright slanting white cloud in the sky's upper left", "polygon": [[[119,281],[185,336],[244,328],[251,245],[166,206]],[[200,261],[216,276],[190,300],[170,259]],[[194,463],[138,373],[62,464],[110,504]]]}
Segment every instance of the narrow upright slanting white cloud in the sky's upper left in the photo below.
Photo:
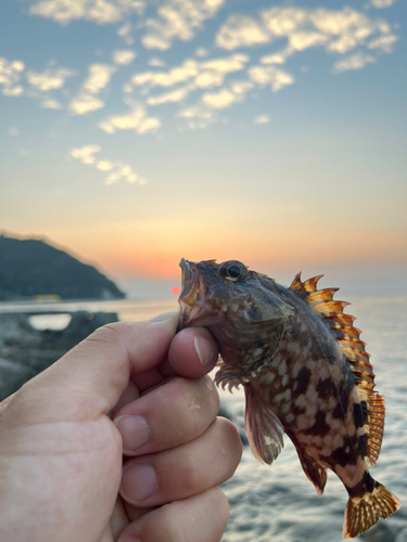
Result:
{"label": "narrow upright slanting white cloud in the sky's upper left", "polygon": [[91,64],[79,94],[69,103],[69,112],[73,115],[86,115],[104,107],[104,102],[98,98],[98,94],[107,87],[116,69],[109,64]]}

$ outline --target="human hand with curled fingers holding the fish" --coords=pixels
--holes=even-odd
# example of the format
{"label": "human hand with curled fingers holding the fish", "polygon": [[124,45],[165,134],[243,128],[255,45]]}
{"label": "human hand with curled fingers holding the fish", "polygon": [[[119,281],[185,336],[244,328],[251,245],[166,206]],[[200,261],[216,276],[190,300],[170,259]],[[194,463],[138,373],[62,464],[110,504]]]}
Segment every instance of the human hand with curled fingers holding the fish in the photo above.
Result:
{"label": "human hand with curled fingers holding the fish", "polygon": [[214,339],[176,325],[103,326],[0,404],[1,541],[220,540],[241,443]]}

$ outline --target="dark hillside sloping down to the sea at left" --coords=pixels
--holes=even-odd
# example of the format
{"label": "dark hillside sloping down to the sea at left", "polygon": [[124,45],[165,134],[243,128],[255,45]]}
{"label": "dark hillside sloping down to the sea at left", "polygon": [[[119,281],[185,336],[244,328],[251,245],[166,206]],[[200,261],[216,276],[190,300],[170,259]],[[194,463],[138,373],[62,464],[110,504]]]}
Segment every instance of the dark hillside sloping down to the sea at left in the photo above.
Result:
{"label": "dark hillside sloping down to the sea at left", "polygon": [[44,241],[0,234],[0,300],[54,295],[62,299],[123,299],[114,282]]}

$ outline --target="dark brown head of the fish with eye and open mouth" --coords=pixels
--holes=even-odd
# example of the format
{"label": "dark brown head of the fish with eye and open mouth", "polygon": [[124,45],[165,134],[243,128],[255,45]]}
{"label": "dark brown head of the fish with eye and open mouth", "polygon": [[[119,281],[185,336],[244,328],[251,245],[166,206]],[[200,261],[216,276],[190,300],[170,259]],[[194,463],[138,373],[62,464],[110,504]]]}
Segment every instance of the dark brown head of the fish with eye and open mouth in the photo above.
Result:
{"label": "dark brown head of the fish with eye and open mouth", "polygon": [[182,259],[180,268],[179,328],[207,327],[220,347],[255,347],[293,313],[274,281],[250,271],[241,261]]}

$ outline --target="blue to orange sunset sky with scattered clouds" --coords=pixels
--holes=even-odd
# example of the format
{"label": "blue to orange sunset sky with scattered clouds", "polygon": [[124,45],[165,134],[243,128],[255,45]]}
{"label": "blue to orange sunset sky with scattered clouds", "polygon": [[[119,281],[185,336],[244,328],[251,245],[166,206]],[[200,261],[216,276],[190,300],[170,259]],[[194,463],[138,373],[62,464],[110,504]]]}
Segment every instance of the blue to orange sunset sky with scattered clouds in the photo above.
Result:
{"label": "blue to orange sunset sky with scattered clouds", "polygon": [[406,0],[1,0],[0,229],[148,292],[183,257],[407,293],[406,22]]}

